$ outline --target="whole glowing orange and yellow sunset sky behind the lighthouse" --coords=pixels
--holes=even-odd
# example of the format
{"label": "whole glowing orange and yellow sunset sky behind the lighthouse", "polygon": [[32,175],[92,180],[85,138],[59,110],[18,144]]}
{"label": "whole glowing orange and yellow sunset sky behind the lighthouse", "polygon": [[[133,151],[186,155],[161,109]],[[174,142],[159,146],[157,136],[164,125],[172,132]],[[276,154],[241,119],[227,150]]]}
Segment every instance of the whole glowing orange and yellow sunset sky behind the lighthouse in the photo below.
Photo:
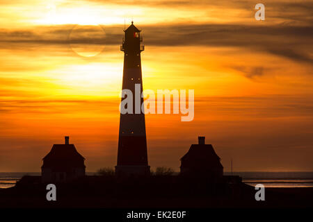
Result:
{"label": "whole glowing orange and yellow sunset sky behind the lighthouse", "polygon": [[0,1],[0,171],[40,171],[70,135],[87,171],[118,148],[124,23],[144,89],[194,89],[195,118],[146,116],[152,168],[206,136],[225,171],[313,171],[312,1]]}

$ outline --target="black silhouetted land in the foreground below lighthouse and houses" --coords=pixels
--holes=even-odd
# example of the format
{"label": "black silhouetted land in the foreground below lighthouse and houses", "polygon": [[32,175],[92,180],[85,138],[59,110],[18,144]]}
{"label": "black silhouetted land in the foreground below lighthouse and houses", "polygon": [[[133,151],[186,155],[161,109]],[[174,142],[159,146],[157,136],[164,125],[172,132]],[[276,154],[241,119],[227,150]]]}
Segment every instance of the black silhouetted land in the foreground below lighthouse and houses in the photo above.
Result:
{"label": "black silhouetted land in the foreground below lighthouse and houses", "polygon": [[151,176],[120,180],[86,176],[56,185],[56,201],[47,201],[40,177],[24,176],[15,187],[0,189],[0,207],[83,208],[282,208],[313,207],[313,188],[266,188],[265,201],[255,187],[241,182],[211,184],[198,178]]}

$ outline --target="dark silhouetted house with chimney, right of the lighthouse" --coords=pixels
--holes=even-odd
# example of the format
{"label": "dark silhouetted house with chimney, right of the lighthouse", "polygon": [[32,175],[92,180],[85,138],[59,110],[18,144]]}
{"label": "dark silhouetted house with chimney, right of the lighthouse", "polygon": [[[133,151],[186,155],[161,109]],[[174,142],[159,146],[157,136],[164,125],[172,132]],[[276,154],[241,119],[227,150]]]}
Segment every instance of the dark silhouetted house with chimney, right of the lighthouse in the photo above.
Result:
{"label": "dark silhouetted house with chimney, right of the lighthouse", "polygon": [[189,151],[180,159],[180,173],[189,176],[210,178],[223,177],[223,165],[211,144],[205,144],[205,137],[198,137],[199,143],[192,144]]}

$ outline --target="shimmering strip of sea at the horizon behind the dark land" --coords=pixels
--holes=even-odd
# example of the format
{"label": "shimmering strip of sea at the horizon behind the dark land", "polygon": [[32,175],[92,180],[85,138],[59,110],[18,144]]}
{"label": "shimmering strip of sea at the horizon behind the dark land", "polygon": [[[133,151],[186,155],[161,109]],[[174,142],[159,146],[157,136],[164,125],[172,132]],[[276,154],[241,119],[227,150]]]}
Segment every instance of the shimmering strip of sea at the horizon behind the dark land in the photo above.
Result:
{"label": "shimmering strip of sea at the horizon behind the dark land", "polygon": [[[95,173],[87,173],[93,175]],[[225,172],[225,175],[231,175]],[[313,187],[313,172],[234,172],[243,178],[243,182],[265,187]],[[15,182],[24,175],[40,176],[40,173],[0,173],[0,188],[14,187]]]}

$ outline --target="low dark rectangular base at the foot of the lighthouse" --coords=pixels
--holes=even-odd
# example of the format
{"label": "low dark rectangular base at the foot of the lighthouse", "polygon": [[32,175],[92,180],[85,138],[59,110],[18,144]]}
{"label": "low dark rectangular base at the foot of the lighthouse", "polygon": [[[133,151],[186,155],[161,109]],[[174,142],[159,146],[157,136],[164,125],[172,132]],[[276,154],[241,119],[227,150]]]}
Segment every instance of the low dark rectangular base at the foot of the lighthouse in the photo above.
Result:
{"label": "low dark rectangular base at the foot of the lighthouse", "polygon": [[116,166],[115,176],[150,176],[150,166]]}

